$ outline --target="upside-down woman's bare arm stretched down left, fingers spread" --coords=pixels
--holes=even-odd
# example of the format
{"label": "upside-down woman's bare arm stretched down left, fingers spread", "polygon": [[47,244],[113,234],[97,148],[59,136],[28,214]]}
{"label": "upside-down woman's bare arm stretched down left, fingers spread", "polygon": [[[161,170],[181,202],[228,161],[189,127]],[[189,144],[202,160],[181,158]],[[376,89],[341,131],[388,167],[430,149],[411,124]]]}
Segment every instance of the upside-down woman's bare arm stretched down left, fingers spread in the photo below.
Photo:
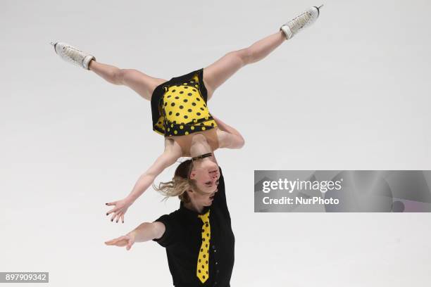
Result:
{"label": "upside-down woman's bare arm stretched down left, fingers spread", "polygon": [[124,222],[124,214],[127,211],[127,208],[129,208],[130,205],[132,205],[132,203],[134,203],[135,200],[137,200],[137,198],[139,198],[139,196],[149,188],[158,174],[161,174],[166,167],[173,165],[181,155],[181,147],[174,141],[165,139],[165,151],[156,159],[154,164],[139,177],[130,194],[122,200],[106,203],[106,205],[115,206],[112,210],[109,210],[106,213],[106,215],[113,213],[111,222],[115,219],[116,222],[118,222],[120,218]]}

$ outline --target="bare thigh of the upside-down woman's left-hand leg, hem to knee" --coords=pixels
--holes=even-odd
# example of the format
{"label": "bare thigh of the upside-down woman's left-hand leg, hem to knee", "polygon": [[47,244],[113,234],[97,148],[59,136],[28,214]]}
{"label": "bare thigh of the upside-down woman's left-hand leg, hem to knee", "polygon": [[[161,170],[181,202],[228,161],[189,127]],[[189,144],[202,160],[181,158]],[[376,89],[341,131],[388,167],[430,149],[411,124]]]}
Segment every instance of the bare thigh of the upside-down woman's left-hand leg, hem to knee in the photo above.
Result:
{"label": "bare thigh of the upside-down woman's left-hand leg, hem to knee", "polygon": [[121,74],[123,83],[127,87],[130,87],[136,91],[139,96],[149,101],[151,101],[151,95],[154,89],[156,89],[159,84],[167,82],[166,79],[151,77],[135,69],[122,69]]}

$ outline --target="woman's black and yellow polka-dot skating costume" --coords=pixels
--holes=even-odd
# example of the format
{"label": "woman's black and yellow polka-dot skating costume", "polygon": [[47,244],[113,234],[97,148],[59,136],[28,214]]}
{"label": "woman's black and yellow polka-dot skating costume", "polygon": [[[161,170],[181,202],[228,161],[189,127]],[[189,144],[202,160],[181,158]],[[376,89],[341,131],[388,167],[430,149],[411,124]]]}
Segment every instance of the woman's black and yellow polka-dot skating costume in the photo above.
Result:
{"label": "woman's black and yellow polka-dot skating costume", "polygon": [[151,96],[153,130],[163,136],[183,136],[217,127],[206,106],[204,68],[173,77]]}

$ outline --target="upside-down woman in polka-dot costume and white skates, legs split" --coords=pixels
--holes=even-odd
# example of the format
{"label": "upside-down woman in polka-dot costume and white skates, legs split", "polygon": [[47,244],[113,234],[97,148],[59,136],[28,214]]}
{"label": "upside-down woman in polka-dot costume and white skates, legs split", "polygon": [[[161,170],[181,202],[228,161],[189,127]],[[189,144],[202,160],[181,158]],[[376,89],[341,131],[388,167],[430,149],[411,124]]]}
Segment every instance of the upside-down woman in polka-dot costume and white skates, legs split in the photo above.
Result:
{"label": "upside-down woman in polka-dot costume and white skates, legs split", "polygon": [[[321,7],[321,6],[320,6]],[[151,101],[153,130],[165,138],[165,150],[137,180],[128,196],[106,203],[113,205],[106,215],[113,213],[111,221],[121,219],[127,208],[148,189],[154,179],[166,167],[182,156],[192,158],[208,157],[192,163],[189,181],[194,189],[202,192],[215,191],[218,180],[218,163],[213,151],[217,148],[242,148],[244,139],[239,132],[209,113],[207,101],[215,89],[220,87],[239,68],[255,63],[268,56],[277,46],[304,27],[314,23],[320,13],[313,6],[251,46],[231,51],[206,68],[170,80],[150,77],[134,69],[120,69],[112,65],[96,62],[89,53],[69,44],[51,42],[56,53],[75,65],[92,70],[112,84],[125,85],[140,96]]]}

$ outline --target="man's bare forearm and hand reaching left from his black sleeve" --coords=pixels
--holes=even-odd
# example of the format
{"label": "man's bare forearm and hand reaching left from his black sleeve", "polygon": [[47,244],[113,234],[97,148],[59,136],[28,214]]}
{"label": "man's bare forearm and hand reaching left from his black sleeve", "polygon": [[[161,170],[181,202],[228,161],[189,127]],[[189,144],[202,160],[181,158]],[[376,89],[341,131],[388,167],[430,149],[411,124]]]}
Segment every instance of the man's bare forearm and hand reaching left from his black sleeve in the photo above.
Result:
{"label": "man's bare forearm and hand reaching left from his black sleeve", "polygon": [[145,242],[156,238],[161,238],[165,233],[165,224],[162,222],[144,222],[125,236],[105,241],[106,245],[126,246],[127,250],[132,248],[135,242]]}

